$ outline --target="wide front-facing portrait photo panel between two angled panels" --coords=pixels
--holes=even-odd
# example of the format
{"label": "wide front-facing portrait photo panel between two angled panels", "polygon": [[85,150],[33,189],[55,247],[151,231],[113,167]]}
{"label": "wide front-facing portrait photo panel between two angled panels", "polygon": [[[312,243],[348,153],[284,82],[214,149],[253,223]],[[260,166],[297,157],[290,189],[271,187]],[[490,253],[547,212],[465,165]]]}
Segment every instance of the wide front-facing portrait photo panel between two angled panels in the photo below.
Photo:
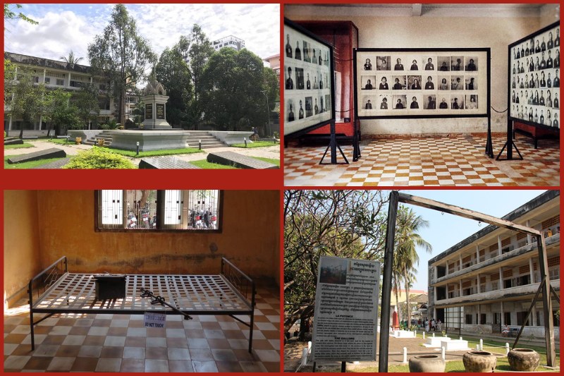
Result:
{"label": "wide front-facing portrait photo panel between two angled panels", "polygon": [[490,49],[356,49],[359,119],[489,116]]}

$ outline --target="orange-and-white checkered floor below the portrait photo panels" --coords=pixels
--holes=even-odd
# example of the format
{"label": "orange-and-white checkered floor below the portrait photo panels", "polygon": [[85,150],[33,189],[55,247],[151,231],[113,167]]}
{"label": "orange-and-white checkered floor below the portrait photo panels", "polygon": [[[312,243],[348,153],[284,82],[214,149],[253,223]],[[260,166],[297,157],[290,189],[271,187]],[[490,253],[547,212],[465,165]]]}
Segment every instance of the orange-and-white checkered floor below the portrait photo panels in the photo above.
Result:
{"label": "orange-and-white checkered floor below the portrait photo panels", "polygon": [[[284,150],[285,186],[559,186],[560,146],[556,140],[517,136],[524,160],[496,161],[484,155],[485,136],[363,140],[362,157],[350,164],[320,165],[326,147]],[[494,136],[494,156],[505,137]],[[504,151],[501,158],[507,156]],[[517,152],[513,151],[513,157]],[[324,162],[330,162],[329,153]],[[338,162],[343,158],[338,154]]]}

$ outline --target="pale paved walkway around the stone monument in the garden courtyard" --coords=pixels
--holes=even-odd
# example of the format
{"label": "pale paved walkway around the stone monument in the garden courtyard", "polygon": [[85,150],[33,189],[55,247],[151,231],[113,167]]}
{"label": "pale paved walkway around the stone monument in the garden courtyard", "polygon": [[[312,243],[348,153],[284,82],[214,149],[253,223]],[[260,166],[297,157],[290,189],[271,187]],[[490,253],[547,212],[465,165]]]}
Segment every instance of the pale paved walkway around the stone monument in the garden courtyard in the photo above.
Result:
{"label": "pale paved walkway around the stone monument in the garden courtyard", "polygon": [[[82,144],[75,145],[71,143],[69,143],[68,145],[56,144],[54,142],[49,142],[44,140],[32,141],[29,143],[34,145],[34,147],[27,147],[23,149],[6,149],[4,150],[4,155],[7,156],[7,155],[28,154],[31,152],[39,152],[41,150],[50,149],[51,147],[56,147],[64,150],[68,156],[73,156],[78,154],[78,152],[80,152],[81,150],[87,150],[92,147],[90,145],[82,145]],[[238,154],[244,154],[250,157],[280,159],[280,145],[274,145],[269,147],[255,147],[249,149],[243,149],[242,147],[213,147],[210,149],[203,149],[203,152],[201,153],[176,154],[175,157],[177,157],[178,159],[182,159],[183,161],[186,162],[191,162],[191,161],[206,159],[207,154],[211,152],[225,152],[225,151],[236,152]],[[135,164],[139,164],[141,160],[140,158],[132,158],[132,157],[127,157],[127,158],[132,160]],[[40,167],[40,168],[44,168],[44,167]]]}

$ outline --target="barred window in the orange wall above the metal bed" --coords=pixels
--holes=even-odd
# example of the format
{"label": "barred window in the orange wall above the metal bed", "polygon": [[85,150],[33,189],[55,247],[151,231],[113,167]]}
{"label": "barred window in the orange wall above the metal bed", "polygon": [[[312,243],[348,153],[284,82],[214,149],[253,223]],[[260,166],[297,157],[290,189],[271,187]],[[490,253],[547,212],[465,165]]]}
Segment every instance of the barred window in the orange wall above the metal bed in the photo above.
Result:
{"label": "barred window in the orange wall above the metal bed", "polygon": [[221,232],[220,190],[97,190],[97,231]]}

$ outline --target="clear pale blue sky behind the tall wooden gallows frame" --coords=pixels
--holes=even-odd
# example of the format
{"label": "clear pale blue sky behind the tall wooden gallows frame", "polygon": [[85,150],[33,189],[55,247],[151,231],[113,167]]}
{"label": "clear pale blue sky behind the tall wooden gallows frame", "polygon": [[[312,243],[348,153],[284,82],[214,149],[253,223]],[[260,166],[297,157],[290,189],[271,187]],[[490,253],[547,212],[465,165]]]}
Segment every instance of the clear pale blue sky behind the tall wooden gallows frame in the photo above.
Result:
{"label": "clear pale blue sky behind the tall wooden gallows frame", "polygon": [[[489,214],[494,217],[503,217],[521,205],[536,198],[544,190],[402,190],[401,192],[410,195],[429,198],[456,205],[465,209]],[[404,204],[405,205],[405,204]],[[417,267],[417,282],[412,289],[427,291],[427,262],[436,255],[443,253],[459,241],[484,229],[488,224],[472,219],[465,219],[453,214],[441,213],[424,207],[408,205],[414,212],[427,219],[429,227],[419,231],[419,234],[427,242],[431,243],[433,250],[427,253],[418,249],[419,266]],[[386,208],[387,213],[387,208]]]}

